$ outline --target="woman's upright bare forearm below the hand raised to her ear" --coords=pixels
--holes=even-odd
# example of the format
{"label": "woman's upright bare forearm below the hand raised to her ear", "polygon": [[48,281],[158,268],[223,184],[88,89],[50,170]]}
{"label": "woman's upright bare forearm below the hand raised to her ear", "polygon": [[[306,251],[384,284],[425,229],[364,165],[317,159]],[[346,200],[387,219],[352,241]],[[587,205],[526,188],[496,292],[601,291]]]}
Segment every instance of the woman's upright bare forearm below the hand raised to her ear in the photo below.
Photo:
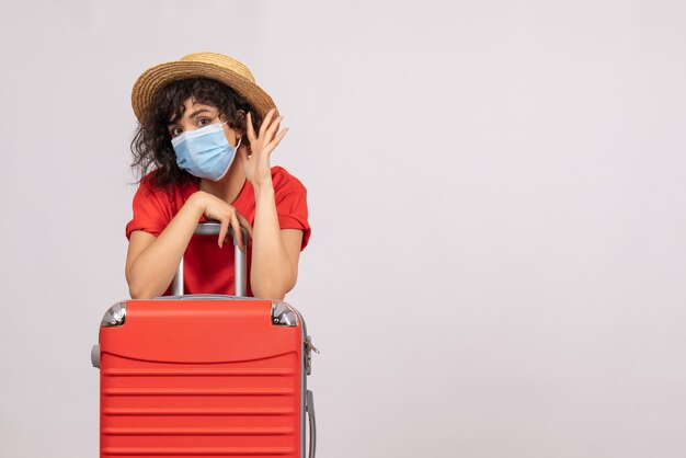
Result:
{"label": "woman's upright bare forearm below the hand raised to her ear", "polygon": [[283,299],[295,284],[295,270],[281,237],[274,186],[255,185],[250,284],[255,297]]}

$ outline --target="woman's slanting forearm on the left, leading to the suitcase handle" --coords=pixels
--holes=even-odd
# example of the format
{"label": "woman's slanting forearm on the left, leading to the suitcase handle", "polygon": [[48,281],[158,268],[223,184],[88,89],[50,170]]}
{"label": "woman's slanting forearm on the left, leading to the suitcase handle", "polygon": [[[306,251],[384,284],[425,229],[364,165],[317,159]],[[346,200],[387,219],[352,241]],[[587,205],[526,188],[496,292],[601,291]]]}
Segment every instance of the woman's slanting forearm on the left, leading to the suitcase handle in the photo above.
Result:
{"label": "woman's slanting forearm on the left, leading to the suitcase handle", "polygon": [[161,296],[169,287],[202,216],[202,209],[195,205],[195,201],[191,196],[158,238],[132,264],[128,285],[132,298]]}

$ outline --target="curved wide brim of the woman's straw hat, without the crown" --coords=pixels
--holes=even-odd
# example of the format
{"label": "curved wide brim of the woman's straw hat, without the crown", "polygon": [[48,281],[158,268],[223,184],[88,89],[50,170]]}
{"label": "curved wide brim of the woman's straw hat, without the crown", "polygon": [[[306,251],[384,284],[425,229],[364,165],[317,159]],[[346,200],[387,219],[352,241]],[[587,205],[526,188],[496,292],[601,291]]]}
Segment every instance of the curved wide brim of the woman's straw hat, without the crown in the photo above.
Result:
{"label": "curved wide brim of the woman's straw hat, without the crown", "polygon": [[245,99],[262,119],[271,108],[276,107],[272,98],[262,88],[230,69],[208,62],[172,61],[149,68],[134,83],[132,106],[138,122],[142,123],[144,114],[160,88],[172,81],[188,78],[209,78],[225,83]]}

